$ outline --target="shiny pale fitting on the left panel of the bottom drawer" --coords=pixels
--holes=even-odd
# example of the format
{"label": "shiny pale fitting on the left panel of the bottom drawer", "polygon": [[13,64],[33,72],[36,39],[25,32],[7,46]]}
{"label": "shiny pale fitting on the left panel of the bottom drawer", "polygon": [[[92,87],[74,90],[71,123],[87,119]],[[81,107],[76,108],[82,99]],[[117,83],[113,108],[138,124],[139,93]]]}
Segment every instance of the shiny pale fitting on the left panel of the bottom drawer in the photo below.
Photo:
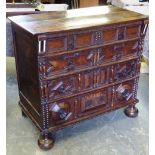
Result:
{"label": "shiny pale fitting on the left panel of the bottom drawer", "polygon": [[50,111],[59,113],[59,117],[64,120],[68,120],[70,116],[72,115],[72,112],[66,112],[64,109],[62,109],[58,104],[54,103]]}

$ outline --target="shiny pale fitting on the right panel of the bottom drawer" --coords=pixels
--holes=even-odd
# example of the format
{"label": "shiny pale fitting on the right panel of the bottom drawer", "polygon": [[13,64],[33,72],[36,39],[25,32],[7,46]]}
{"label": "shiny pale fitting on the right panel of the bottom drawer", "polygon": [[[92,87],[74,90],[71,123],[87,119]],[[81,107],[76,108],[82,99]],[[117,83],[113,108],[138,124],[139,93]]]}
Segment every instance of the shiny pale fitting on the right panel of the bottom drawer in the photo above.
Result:
{"label": "shiny pale fitting on the right panel of the bottom drawer", "polygon": [[127,101],[132,97],[132,93],[130,93],[127,88],[123,87],[122,84],[116,89],[116,92],[121,94]]}

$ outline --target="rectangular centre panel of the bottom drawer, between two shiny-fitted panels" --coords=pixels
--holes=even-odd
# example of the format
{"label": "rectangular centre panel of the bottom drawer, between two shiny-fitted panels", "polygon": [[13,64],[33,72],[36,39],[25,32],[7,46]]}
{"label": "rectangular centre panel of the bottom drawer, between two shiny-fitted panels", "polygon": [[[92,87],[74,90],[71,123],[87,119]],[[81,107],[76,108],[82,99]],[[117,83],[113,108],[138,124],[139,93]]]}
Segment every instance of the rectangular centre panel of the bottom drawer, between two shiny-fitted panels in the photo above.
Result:
{"label": "rectangular centre panel of the bottom drawer, between two shiny-fitted panels", "polygon": [[80,117],[108,109],[110,107],[108,100],[111,98],[111,93],[109,88],[105,88],[89,94],[81,95],[79,98],[77,115]]}

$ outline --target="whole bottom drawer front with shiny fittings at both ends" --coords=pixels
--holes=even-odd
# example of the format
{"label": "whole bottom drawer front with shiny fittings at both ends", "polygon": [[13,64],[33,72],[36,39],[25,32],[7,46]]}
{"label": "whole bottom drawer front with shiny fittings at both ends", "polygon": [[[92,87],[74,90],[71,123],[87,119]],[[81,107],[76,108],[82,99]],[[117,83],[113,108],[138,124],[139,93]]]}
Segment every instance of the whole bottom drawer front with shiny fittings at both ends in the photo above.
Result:
{"label": "whole bottom drawer front with shiny fittings at both ends", "polygon": [[[76,122],[134,102],[134,80],[49,104],[50,126]],[[67,123],[67,124],[68,124]]]}

